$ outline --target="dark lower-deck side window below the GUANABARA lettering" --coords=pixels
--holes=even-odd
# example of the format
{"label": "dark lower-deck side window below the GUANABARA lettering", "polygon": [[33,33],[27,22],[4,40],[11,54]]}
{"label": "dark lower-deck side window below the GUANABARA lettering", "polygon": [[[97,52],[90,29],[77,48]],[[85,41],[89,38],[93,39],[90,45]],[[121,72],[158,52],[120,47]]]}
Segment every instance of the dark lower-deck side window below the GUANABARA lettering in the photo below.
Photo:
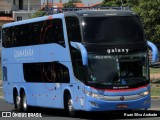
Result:
{"label": "dark lower-deck side window below the GUANABARA lettering", "polygon": [[24,79],[27,82],[69,83],[68,68],[57,62],[24,63]]}

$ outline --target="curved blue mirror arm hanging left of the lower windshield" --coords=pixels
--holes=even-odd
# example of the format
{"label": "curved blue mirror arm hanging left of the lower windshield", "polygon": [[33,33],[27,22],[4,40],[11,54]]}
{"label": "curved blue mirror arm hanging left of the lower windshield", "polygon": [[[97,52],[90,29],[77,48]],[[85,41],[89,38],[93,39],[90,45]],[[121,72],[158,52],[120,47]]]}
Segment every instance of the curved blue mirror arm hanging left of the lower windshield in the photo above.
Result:
{"label": "curved blue mirror arm hanging left of the lower windshield", "polygon": [[87,55],[87,50],[86,48],[82,45],[82,43],[79,42],[70,42],[71,46],[74,47],[75,49],[78,49],[81,52],[82,56],[82,63],[83,65],[88,65],[88,55]]}

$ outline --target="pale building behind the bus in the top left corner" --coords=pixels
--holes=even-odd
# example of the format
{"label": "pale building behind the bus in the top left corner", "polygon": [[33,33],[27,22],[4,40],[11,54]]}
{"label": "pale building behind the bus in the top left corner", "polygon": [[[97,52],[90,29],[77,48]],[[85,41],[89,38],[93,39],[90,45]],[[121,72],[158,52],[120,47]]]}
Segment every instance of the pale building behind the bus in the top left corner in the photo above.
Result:
{"label": "pale building behind the bus in the top left corner", "polygon": [[0,1],[0,15],[12,16],[14,21],[28,19],[38,9],[41,9],[41,0]]}

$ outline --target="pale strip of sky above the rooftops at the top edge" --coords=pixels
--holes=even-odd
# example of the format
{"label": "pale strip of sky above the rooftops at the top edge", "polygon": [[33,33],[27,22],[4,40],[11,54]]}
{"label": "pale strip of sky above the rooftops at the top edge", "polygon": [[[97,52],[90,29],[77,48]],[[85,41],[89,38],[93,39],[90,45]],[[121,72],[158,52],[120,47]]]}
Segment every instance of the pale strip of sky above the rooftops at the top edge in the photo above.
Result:
{"label": "pale strip of sky above the rooftops at the top edge", "polygon": [[[42,3],[43,3],[43,1],[47,1],[47,0],[41,0],[42,1]],[[59,2],[59,0],[48,0],[48,1],[50,1],[50,2],[54,2],[54,3],[58,3]],[[64,2],[68,2],[69,0],[62,0],[62,2],[64,3]],[[85,5],[89,5],[89,4],[94,4],[94,3],[97,3],[97,2],[102,2],[103,0],[81,0]]]}

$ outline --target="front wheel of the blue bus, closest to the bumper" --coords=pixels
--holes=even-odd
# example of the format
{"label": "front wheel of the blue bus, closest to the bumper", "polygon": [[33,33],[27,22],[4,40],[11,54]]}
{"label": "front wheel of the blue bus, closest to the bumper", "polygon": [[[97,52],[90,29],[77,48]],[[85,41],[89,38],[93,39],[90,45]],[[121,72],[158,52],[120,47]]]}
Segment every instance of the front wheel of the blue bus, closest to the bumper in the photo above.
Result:
{"label": "front wheel of the blue bus, closest to the bumper", "polygon": [[75,110],[73,108],[73,100],[71,98],[71,95],[68,95],[68,101],[67,101],[67,110],[70,117],[75,116]]}

